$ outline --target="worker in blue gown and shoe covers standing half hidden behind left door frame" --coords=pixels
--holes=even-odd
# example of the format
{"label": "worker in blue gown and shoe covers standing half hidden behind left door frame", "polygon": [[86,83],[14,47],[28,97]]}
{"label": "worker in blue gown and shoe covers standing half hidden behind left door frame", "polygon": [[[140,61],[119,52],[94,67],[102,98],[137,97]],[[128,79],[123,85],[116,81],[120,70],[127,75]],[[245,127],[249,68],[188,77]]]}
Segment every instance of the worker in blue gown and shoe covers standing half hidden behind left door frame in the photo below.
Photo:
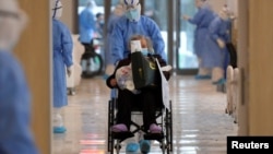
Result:
{"label": "worker in blue gown and shoe covers standing half hidden behind left door frame", "polygon": [[54,132],[63,133],[66,127],[61,116],[61,109],[68,105],[67,76],[72,71],[73,43],[69,28],[59,21],[62,13],[60,0],[52,0],[52,36],[54,36]]}

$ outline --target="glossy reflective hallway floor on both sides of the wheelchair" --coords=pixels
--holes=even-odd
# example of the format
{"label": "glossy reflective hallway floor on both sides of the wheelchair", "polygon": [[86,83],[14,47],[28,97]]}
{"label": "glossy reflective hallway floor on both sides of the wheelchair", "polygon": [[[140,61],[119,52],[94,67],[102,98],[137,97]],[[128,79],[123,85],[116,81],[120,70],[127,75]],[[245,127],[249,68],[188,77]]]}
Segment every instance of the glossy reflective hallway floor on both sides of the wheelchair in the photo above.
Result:
{"label": "glossy reflective hallway floor on both sides of the wheelchair", "polygon": [[[173,76],[174,154],[226,154],[226,137],[237,126],[225,114],[226,95],[216,92],[209,80]],[[82,80],[76,95],[69,96],[63,109],[64,134],[54,134],[54,154],[107,154],[109,88],[102,78]],[[121,149],[124,153],[124,146]],[[161,154],[156,141],[151,154]]]}

